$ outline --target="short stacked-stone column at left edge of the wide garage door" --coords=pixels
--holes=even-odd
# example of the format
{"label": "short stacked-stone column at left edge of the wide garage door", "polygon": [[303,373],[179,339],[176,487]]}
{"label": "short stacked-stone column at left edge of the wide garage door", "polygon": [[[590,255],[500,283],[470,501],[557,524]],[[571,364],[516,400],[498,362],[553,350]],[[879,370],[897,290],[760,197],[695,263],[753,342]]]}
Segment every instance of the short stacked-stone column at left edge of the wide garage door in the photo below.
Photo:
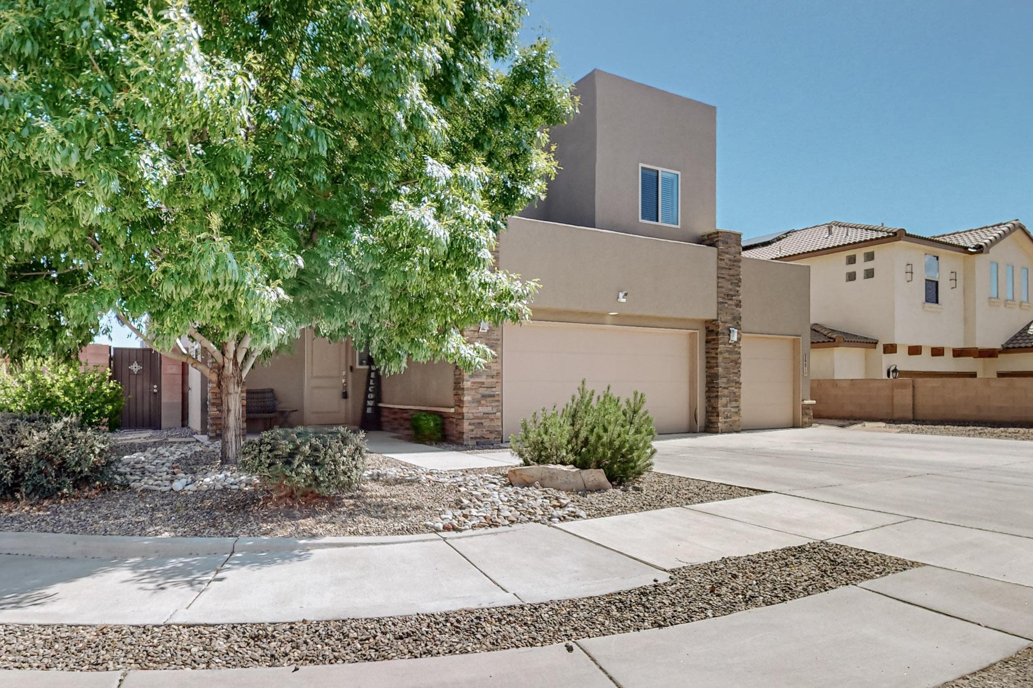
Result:
{"label": "short stacked-stone column at left edge of the wide garage door", "polygon": [[487,445],[502,441],[502,327],[491,326],[466,333],[469,341],[486,345],[495,357],[480,370],[452,376],[456,413],[451,441],[460,445]]}

